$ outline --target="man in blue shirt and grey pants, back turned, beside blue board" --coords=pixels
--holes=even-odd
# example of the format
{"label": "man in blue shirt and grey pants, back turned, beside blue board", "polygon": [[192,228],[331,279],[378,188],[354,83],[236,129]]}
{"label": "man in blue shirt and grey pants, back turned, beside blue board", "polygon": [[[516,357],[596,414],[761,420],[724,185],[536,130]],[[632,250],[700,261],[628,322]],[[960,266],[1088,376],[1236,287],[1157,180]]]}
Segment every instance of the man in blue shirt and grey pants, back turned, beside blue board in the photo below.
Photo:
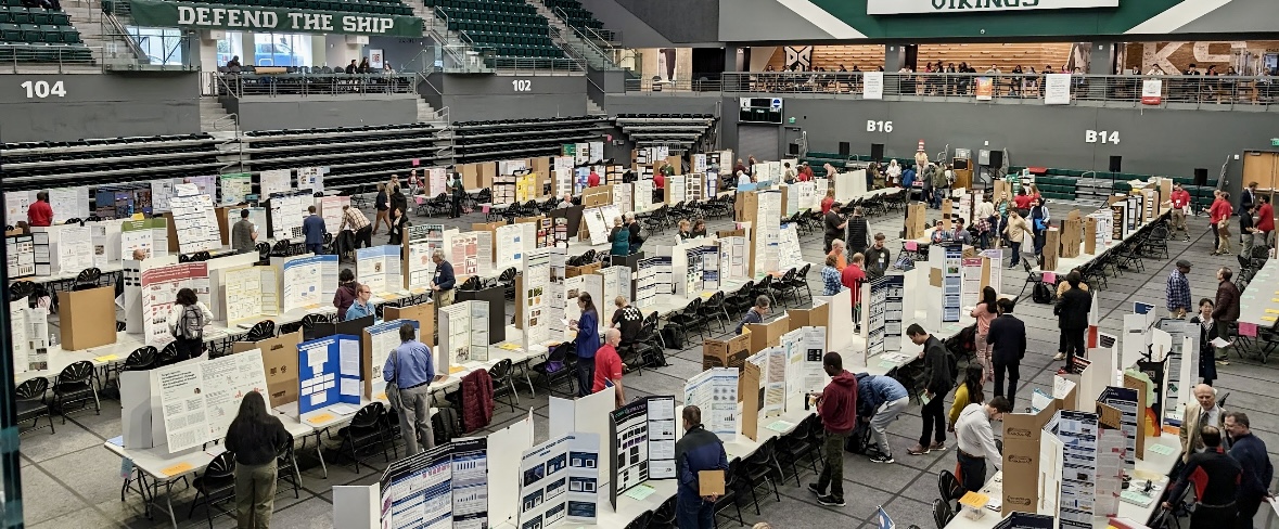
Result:
{"label": "man in blue shirt and grey pants, back turned, beside blue board", "polygon": [[399,386],[400,433],[404,434],[408,456],[434,448],[431,381],[435,379],[435,363],[431,348],[417,341],[417,328],[411,323],[400,327],[400,345],[391,351],[386,365],[382,365],[382,378]]}

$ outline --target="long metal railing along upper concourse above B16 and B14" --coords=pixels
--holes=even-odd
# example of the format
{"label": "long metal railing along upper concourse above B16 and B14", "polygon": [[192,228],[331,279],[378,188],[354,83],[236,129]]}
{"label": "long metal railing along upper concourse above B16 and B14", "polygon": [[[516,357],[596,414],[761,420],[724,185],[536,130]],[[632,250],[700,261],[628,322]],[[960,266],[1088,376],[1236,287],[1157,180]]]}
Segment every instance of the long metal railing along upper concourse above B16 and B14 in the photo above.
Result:
{"label": "long metal railing along upper concourse above B16 and B14", "polygon": [[[1003,103],[1042,103],[1045,78],[1036,74],[885,73],[885,100],[975,101],[978,79],[990,79],[990,100]],[[1142,95],[1145,80],[1159,79],[1157,102]],[[865,74],[859,72],[751,72],[725,73],[721,89],[729,93],[811,93],[831,97],[865,97]],[[660,88],[659,88],[660,86]],[[706,91],[697,80],[628,83],[628,91]],[[1197,106],[1204,109],[1250,107],[1279,110],[1276,77],[1205,75],[1085,75],[1071,77],[1071,103],[1081,101],[1120,106]]]}

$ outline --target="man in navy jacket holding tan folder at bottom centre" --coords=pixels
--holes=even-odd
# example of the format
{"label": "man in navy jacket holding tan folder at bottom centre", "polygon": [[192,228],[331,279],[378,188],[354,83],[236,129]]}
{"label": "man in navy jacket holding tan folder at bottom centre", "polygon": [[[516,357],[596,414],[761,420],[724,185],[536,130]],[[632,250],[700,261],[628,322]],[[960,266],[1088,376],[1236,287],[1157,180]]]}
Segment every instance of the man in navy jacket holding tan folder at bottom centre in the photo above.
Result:
{"label": "man in navy jacket holding tan folder at bottom centre", "polygon": [[[714,529],[718,496],[702,496],[698,473],[728,471],[728,452],[719,436],[702,427],[702,410],[684,406],[680,414],[684,437],[675,442],[675,468],[679,477],[675,520],[680,529]],[[725,477],[725,482],[726,482]]]}

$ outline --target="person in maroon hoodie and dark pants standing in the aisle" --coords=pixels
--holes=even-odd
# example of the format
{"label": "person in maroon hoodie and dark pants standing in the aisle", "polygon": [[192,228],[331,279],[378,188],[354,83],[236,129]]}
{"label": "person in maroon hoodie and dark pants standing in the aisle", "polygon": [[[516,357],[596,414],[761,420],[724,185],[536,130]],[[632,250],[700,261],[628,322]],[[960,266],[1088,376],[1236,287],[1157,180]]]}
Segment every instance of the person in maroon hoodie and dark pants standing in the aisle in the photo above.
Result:
{"label": "person in maroon hoodie and dark pants standing in the aisle", "polygon": [[830,383],[812,396],[817,400],[817,415],[826,429],[821,443],[825,466],[817,483],[810,483],[808,489],[817,494],[817,503],[843,507],[848,505],[844,502],[844,442],[857,425],[857,377],[844,371],[844,360],[835,351],[822,356],[821,368],[830,377]]}

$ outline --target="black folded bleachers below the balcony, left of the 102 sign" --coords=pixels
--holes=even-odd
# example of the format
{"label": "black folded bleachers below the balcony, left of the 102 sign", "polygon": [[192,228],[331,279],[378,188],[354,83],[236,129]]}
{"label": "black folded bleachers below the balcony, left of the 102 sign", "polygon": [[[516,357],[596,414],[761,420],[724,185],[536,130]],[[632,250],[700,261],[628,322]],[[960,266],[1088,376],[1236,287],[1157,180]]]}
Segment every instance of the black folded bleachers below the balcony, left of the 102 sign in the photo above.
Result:
{"label": "black folded bleachers below the balcony, left of the 102 sign", "polygon": [[299,165],[327,166],[326,189],[359,188],[405,175],[414,161],[448,165],[450,142],[426,123],[244,133],[244,165],[257,172]]}

